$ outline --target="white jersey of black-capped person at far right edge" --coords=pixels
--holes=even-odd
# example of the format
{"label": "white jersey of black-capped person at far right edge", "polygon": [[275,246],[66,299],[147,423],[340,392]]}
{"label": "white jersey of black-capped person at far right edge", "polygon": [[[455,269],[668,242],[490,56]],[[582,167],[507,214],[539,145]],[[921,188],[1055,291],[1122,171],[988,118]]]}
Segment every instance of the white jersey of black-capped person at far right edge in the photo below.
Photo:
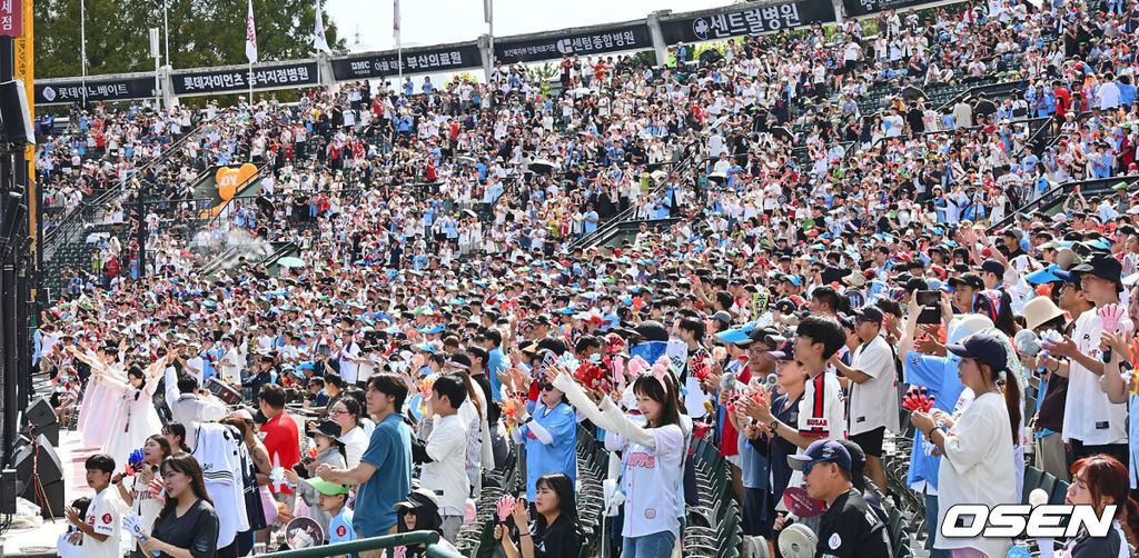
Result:
{"label": "white jersey of black-capped person at far right edge", "polygon": [[[1089,310],[1075,320],[1072,340],[1081,353],[1093,359],[1100,358],[1099,335],[1104,319]],[[1134,325],[1125,315],[1120,318],[1120,329],[1133,331]],[[1130,335],[1130,334],[1129,334]],[[1128,405],[1112,403],[1099,387],[1099,376],[1079,362],[1068,364],[1068,393],[1064,408],[1065,442],[1079,440],[1084,445],[1128,443]]]}

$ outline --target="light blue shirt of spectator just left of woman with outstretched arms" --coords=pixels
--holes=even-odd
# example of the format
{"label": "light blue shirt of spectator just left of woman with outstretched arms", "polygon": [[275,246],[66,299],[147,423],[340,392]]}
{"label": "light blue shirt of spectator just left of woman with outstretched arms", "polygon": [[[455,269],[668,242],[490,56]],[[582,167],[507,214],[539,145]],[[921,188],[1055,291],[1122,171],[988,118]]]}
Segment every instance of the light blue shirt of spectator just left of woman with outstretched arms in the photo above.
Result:
{"label": "light blue shirt of spectator just left of woman with outstretched arms", "polygon": [[547,473],[565,473],[571,481],[577,478],[577,417],[573,409],[558,403],[554,409],[538,405],[534,422],[550,433],[554,443],[547,445],[530,433],[530,425],[519,427],[526,444],[526,499],[534,501],[534,484]]}

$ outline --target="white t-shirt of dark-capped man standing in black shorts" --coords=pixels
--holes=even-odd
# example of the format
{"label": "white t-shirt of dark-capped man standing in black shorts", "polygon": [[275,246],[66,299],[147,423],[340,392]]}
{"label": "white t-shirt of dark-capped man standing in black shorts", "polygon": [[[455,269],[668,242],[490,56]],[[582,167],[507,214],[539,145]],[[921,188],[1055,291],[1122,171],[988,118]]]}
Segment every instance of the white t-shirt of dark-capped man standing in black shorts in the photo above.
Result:
{"label": "white t-shirt of dark-capped man standing in black shorts", "polygon": [[886,339],[878,336],[854,350],[851,368],[870,376],[851,383],[847,432],[853,436],[885,426],[898,432],[898,369]]}

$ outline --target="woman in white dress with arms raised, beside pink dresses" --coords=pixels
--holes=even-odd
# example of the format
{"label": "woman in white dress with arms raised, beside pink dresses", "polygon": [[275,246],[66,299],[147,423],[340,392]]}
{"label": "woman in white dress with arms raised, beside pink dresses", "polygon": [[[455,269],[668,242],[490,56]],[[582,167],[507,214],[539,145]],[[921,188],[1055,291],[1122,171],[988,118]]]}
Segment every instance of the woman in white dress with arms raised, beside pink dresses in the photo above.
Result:
{"label": "woman in white dress with arms raised, beside pink dresses", "polygon": [[103,446],[103,451],[116,463],[125,463],[131,452],[146,444],[147,437],[162,432],[162,421],[150,397],[158,388],[158,372],[169,362],[170,355],[155,361],[145,371],[137,366],[131,367],[126,372],[126,383],[113,377],[103,378],[107,388],[118,395],[116,412],[110,420],[112,430]]}

